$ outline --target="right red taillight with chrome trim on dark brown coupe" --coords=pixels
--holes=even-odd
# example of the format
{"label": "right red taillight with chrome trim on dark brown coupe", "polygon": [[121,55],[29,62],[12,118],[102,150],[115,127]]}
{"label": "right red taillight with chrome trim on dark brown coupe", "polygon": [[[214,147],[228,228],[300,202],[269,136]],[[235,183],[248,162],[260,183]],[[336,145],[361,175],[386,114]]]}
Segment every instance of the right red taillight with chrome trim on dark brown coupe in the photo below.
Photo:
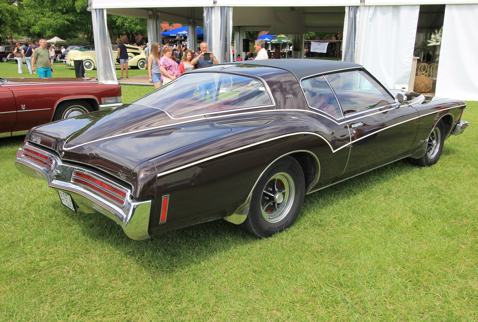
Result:
{"label": "right red taillight with chrome trim on dark brown coupe", "polygon": [[126,202],[126,194],[128,193],[126,189],[123,189],[120,186],[115,186],[87,173],[74,171],[71,176],[71,182],[81,184],[120,206],[123,206]]}

